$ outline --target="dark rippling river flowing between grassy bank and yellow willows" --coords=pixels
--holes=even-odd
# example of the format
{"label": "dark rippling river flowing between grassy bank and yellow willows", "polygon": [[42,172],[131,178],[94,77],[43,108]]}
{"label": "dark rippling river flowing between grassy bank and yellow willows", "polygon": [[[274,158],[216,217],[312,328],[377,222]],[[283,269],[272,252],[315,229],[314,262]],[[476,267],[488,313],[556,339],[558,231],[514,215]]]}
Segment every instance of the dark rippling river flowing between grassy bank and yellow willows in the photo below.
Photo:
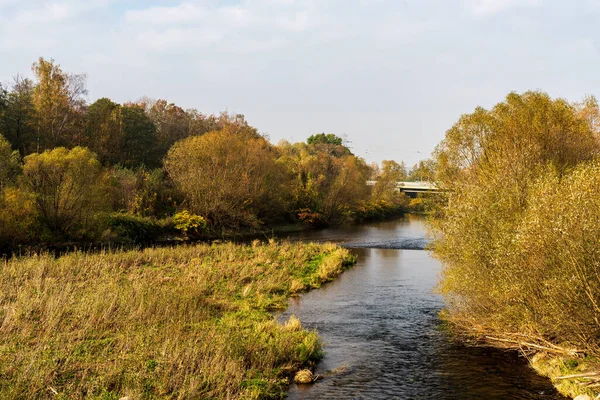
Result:
{"label": "dark rippling river flowing between grassy bank and yellow willows", "polygon": [[290,239],[341,243],[358,263],[280,315],[316,329],[326,352],[316,369],[324,378],[293,384],[289,399],[564,399],[515,352],[465,347],[440,329],[440,264],[423,250],[422,219]]}

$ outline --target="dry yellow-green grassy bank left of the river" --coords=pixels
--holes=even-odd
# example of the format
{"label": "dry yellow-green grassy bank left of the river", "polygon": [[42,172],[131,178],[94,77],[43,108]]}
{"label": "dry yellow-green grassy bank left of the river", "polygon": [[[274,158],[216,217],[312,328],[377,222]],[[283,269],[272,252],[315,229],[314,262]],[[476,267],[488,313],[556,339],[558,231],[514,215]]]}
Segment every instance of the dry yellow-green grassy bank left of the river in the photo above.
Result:
{"label": "dry yellow-green grassy bank left of the river", "polygon": [[352,262],[274,242],[4,261],[0,398],[281,398],[321,346],[269,311]]}

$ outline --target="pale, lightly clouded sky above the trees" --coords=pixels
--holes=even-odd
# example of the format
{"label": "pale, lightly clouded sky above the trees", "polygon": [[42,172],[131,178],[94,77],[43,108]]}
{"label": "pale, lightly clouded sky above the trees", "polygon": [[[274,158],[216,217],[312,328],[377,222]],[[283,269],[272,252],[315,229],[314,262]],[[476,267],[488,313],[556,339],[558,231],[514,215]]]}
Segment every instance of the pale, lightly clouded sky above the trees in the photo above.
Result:
{"label": "pale, lightly clouded sky above the trees", "polygon": [[53,58],[90,102],[241,113],[410,167],[511,91],[600,96],[598,21],[600,0],[0,0],[0,82]]}

